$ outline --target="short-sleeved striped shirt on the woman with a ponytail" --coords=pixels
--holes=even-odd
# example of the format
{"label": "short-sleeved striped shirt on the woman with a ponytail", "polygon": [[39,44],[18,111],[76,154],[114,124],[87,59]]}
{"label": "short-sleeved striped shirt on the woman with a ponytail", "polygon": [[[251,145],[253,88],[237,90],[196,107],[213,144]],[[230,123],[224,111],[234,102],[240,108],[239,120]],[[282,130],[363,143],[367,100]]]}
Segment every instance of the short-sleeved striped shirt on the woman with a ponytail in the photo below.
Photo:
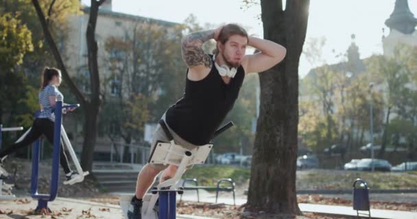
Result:
{"label": "short-sleeved striped shirt on the woman with a ponytail", "polygon": [[42,105],[43,108],[38,118],[49,118],[50,120],[55,122],[55,115],[53,114],[55,107],[51,107],[51,103],[49,103],[49,96],[55,96],[56,101],[64,101],[64,96],[58,90],[58,88],[56,88],[56,86],[45,86],[45,88],[40,90],[38,94],[39,103],[40,105]]}

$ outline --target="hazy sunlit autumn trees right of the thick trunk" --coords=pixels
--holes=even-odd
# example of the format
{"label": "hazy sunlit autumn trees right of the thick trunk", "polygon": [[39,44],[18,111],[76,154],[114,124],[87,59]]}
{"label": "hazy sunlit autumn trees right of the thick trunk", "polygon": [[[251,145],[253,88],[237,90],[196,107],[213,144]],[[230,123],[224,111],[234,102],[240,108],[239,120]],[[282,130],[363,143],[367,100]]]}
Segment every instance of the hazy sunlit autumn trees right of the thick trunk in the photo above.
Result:
{"label": "hazy sunlit autumn trees right of the thick trunk", "polygon": [[[322,41],[313,40],[311,44],[313,48],[307,49],[306,55],[318,56],[312,59],[321,63],[321,50],[315,47],[322,47]],[[381,133],[386,129],[388,145],[406,139],[405,144],[413,149],[415,137],[409,136],[406,129],[414,130],[412,124],[417,121],[417,92],[413,89],[417,86],[416,55],[416,48],[399,46],[392,57],[374,55],[364,60],[366,71],[363,73],[351,73],[350,67],[354,64],[349,61],[331,66],[324,64],[312,70],[300,81],[298,131],[303,142],[320,153],[337,143],[357,150],[368,142],[364,136],[370,131],[372,96],[374,133],[377,134],[374,141],[382,142]],[[372,93],[370,82],[374,82]],[[388,126],[385,119],[389,108],[394,124]],[[395,116],[400,118],[397,120]]]}

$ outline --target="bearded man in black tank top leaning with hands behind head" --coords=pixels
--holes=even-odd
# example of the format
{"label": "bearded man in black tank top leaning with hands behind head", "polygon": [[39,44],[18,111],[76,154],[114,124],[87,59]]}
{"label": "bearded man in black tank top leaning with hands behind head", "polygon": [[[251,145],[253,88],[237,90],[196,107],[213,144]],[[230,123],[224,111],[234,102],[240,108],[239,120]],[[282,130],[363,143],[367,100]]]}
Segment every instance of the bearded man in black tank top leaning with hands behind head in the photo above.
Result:
{"label": "bearded man in black tank top leaning with hands behind head", "polygon": [[[214,55],[204,53],[202,44],[214,39]],[[167,129],[174,142],[186,149],[208,144],[224,118],[232,110],[243,79],[248,73],[263,72],[281,62],[286,49],[270,40],[248,36],[246,30],[228,24],[214,30],[189,34],[182,39],[182,58],[187,64],[184,96],[163,115],[165,124],[158,125],[152,140],[169,142]],[[259,53],[246,55],[246,47]],[[153,151],[153,150],[152,150]],[[130,202],[129,219],[141,219],[142,198],[156,175],[162,170],[161,181],[174,177],[178,166],[147,164],[139,172],[136,195]]]}

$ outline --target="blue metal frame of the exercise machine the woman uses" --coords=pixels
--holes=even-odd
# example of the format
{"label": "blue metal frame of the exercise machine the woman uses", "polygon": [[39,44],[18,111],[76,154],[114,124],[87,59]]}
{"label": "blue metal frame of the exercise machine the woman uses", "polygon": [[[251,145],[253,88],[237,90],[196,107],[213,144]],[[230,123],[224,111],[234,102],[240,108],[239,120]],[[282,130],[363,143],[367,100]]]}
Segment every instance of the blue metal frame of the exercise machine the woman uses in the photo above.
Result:
{"label": "blue metal frame of the exercise machine the woman uses", "polygon": [[[39,155],[40,155],[40,142],[37,140],[34,143],[32,152],[32,179],[30,186],[30,193],[32,198],[38,199],[38,206],[35,211],[48,208],[48,202],[53,201],[58,194],[58,179],[59,179],[59,166],[60,166],[60,136],[61,136],[61,123],[62,123],[62,101],[56,101],[55,105],[55,126],[53,130],[53,152],[52,152],[52,174],[51,174],[51,186],[49,194],[38,194],[38,167],[39,167]],[[38,118],[38,112],[36,114]]]}

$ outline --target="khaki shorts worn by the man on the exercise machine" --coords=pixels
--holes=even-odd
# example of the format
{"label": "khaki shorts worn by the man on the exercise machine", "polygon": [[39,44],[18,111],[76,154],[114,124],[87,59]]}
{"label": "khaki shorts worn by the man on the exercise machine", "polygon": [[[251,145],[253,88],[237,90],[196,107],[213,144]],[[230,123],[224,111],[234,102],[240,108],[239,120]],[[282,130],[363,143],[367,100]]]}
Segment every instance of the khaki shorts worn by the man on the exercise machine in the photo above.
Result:
{"label": "khaki shorts worn by the man on the exercise machine", "polygon": [[[165,120],[165,114],[162,116],[162,119]],[[165,123],[165,125],[167,125],[167,123]],[[177,135],[177,133],[172,131],[172,129],[168,125],[167,125],[167,128],[169,129],[169,132],[171,133],[172,137],[174,138],[175,144],[178,144],[179,146],[182,146],[184,149],[188,149],[190,151],[198,147],[197,145],[191,144],[190,142],[187,142],[186,140],[182,139],[180,136]],[[152,154],[152,151],[154,151],[154,148],[155,148],[157,142],[167,142],[167,143],[169,143],[169,138],[165,134],[165,131],[164,131],[163,127],[161,127],[159,124],[155,129],[154,138],[152,138],[151,154]],[[167,165],[149,164],[149,165],[152,166],[153,168],[158,169],[158,170],[165,170],[165,168],[167,168],[169,166],[169,164],[167,164]],[[187,166],[187,168],[191,168],[192,166],[193,165]]]}

